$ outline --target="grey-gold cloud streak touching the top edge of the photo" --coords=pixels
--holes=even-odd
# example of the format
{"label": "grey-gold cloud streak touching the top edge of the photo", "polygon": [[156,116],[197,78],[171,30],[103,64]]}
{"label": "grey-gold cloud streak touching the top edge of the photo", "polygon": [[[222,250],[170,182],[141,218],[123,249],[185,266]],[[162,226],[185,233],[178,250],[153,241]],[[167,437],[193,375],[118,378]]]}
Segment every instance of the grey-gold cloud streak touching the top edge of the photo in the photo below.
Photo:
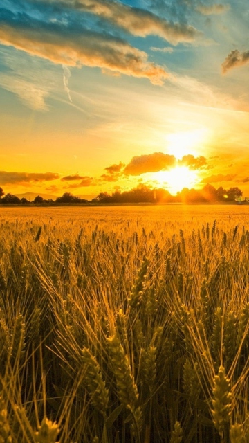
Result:
{"label": "grey-gold cloud streak touching the top edge of the photo", "polygon": [[153,12],[141,8],[134,8],[119,1],[112,0],[69,0],[57,1],[66,8],[74,8],[91,12],[98,15],[114,26],[118,26],[133,35],[146,37],[147,35],[158,35],[172,44],[179,42],[193,42],[202,35],[194,26],[183,23],[173,23]]}

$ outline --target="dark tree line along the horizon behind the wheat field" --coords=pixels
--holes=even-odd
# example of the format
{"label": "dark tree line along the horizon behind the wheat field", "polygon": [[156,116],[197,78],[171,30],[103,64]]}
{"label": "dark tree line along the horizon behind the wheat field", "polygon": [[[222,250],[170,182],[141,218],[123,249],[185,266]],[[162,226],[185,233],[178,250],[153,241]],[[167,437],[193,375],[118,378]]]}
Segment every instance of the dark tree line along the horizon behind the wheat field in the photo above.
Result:
{"label": "dark tree line along the horizon behind the wheat field", "polygon": [[108,192],[100,192],[94,199],[86,200],[81,199],[70,192],[64,192],[61,197],[57,199],[44,199],[42,196],[37,195],[33,201],[28,201],[25,197],[19,199],[16,195],[10,193],[6,194],[3,189],[0,188],[0,203],[1,204],[125,204],[125,203],[221,203],[235,201],[242,196],[242,192],[239,188],[234,187],[225,190],[222,186],[218,189],[214,186],[207,184],[201,190],[194,188],[183,188],[181,192],[176,195],[171,195],[170,192],[163,188],[151,189],[144,184],[140,184],[136,188],[129,191],[121,192],[116,190],[112,194]]}

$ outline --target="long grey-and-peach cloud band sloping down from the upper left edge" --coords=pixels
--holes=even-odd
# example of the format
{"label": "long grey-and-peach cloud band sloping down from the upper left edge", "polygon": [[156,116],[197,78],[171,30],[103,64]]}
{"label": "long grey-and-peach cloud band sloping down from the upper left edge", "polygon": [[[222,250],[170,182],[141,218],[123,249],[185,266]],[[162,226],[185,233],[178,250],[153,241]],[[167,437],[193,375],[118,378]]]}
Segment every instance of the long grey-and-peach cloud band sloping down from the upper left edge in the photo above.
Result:
{"label": "long grey-and-peach cloud band sloping down from the upper left edge", "polygon": [[147,53],[107,33],[46,24],[7,10],[0,18],[0,43],[66,66],[100,67],[163,84],[169,74],[147,62]]}

